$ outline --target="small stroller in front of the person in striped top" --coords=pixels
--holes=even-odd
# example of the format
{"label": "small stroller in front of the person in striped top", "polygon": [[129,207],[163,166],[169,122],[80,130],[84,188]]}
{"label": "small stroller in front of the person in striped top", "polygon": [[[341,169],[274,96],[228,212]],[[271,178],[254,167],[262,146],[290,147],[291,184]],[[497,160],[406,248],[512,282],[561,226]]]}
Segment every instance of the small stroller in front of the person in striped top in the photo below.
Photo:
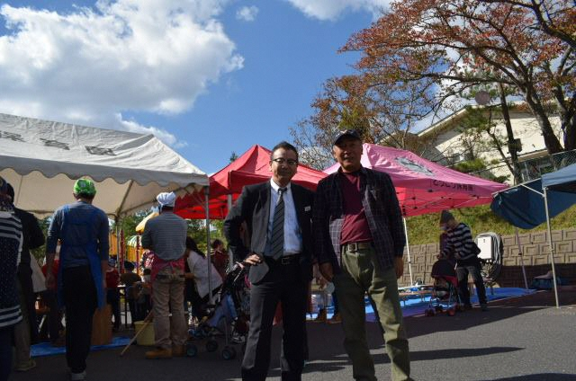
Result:
{"label": "small stroller in front of the person in striped top", "polygon": [[446,259],[436,261],[430,276],[434,279],[434,287],[425,315],[434,316],[441,313],[446,305],[446,315],[454,316],[456,310],[461,310],[455,262]]}

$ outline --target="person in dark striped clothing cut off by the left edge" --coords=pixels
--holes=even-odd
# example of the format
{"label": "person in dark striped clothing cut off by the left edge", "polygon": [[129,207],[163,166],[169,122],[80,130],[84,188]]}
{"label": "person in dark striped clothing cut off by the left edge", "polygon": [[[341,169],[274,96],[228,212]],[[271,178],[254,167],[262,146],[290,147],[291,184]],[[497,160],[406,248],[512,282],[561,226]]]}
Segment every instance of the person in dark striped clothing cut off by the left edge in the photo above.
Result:
{"label": "person in dark striped clothing cut off by the left edge", "polygon": [[16,283],[23,244],[22,223],[14,216],[7,190],[0,177],[0,381],[6,381],[10,375],[14,324],[22,320]]}

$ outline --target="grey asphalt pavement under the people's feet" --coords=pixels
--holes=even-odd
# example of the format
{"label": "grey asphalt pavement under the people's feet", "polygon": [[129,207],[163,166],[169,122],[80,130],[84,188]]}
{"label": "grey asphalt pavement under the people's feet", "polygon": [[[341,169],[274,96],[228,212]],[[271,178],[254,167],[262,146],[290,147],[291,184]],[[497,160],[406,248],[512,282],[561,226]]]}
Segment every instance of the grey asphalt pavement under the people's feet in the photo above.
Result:
{"label": "grey asphalt pavement under the people's feet", "polygon": [[[576,380],[576,291],[561,291],[560,309],[554,294],[538,292],[499,300],[488,312],[478,307],[453,317],[412,316],[405,319],[410,336],[412,377],[415,380]],[[375,323],[366,323],[376,376],[389,380],[390,360]],[[131,332],[125,332],[130,334]],[[352,366],[342,346],[339,324],[308,324],[310,361],[304,381],[350,381]],[[282,331],[275,329],[269,380],[280,380]],[[240,348],[237,348],[240,350]],[[220,350],[200,345],[195,358],[146,360],[147,348],[132,346],[94,351],[88,357],[88,381],[232,381],[239,380],[240,359],[224,360]],[[65,381],[63,355],[36,359],[38,367],[13,373],[11,381]]]}

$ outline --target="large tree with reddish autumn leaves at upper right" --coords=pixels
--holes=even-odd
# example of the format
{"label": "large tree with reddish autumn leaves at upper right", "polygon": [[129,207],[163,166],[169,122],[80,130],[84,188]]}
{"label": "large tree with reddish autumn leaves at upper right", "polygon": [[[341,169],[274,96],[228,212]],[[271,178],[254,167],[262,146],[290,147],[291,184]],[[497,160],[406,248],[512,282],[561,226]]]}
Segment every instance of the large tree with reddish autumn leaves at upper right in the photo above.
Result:
{"label": "large tree with reddish autumn leaves at upper right", "polygon": [[[563,13],[558,13],[563,10]],[[576,25],[566,0],[406,0],[348,40],[366,88],[401,99],[419,84],[435,112],[454,105],[474,86],[513,89],[534,114],[550,154],[576,148]],[[560,114],[564,141],[550,117]]]}

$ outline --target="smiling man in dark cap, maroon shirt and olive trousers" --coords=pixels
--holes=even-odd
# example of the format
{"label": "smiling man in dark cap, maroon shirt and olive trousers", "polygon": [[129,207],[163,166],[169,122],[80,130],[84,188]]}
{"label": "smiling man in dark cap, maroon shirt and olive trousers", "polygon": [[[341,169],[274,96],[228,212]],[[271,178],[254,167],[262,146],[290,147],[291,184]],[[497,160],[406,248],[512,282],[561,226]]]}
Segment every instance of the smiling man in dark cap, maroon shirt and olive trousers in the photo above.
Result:
{"label": "smiling man in dark cap, maroon shirt and olive trousers", "polygon": [[356,130],[338,134],[332,147],[338,173],[320,181],[314,199],[314,243],[320,272],[336,286],[344,346],[356,380],[375,381],[365,333],[365,293],[383,328],[393,380],[410,380],[398,280],[406,237],[390,176],[364,168]]}

